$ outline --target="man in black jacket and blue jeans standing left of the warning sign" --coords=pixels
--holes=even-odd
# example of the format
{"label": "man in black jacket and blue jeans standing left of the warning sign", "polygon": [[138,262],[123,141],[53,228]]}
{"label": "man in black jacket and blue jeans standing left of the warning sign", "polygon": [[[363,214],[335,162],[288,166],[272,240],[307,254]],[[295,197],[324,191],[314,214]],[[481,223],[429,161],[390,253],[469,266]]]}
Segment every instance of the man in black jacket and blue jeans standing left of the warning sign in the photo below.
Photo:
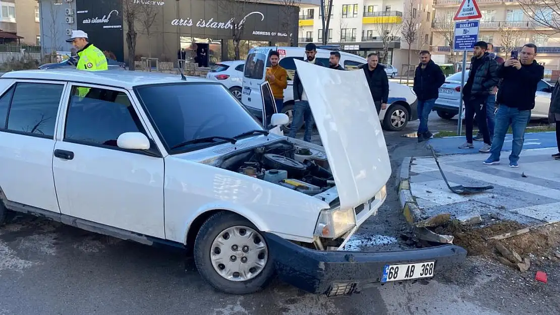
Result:
{"label": "man in black jacket and blue jeans standing left of the warning sign", "polygon": [[439,95],[440,87],[445,83],[445,75],[441,68],[432,61],[430,51],[420,51],[420,64],[414,72],[414,93],[418,100],[418,142],[432,137],[428,129],[428,116]]}

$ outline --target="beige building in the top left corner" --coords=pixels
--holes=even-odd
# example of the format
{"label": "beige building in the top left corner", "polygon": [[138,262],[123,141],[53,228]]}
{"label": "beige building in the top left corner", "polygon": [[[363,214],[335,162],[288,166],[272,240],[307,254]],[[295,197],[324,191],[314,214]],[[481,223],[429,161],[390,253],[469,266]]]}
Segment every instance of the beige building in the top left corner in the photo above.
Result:
{"label": "beige building in the top left corner", "polygon": [[38,45],[39,4],[36,0],[0,1],[0,44]]}

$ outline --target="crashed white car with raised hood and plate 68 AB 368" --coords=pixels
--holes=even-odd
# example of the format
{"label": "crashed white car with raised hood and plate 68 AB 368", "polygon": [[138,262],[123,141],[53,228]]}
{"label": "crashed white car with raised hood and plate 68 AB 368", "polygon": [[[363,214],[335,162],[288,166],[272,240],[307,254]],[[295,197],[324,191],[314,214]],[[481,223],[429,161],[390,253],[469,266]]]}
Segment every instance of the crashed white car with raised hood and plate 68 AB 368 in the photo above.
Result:
{"label": "crashed white car with raised hood and plate 68 AB 368", "polygon": [[[380,123],[370,119],[371,98],[355,76],[304,68],[325,147],[269,133],[287,116],[264,107],[256,120],[208,79],[114,70],[4,74],[0,222],[8,210],[20,211],[184,248],[204,279],[234,294],[255,292],[276,273],[307,292],[348,295],[370,283],[431,278],[464,260],[454,245],[343,250],[384,203],[391,165]],[[316,73],[339,83],[321,87],[310,80]],[[261,93],[274,108],[269,88]],[[328,101],[317,102],[321,95]]]}

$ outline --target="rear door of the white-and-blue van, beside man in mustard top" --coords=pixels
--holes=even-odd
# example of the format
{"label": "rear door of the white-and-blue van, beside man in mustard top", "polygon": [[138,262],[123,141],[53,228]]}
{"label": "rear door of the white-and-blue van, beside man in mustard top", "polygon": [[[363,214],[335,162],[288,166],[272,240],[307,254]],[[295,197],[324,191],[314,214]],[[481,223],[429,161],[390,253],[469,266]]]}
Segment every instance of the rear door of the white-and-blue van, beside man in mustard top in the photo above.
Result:
{"label": "rear door of the white-and-blue van, beside man in mustard top", "polygon": [[265,81],[264,76],[269,64],[268,56],[272,50],[270,47],[255,47],[249,50],[245,62],[241,102],[254,114],[260,112],[263,107],[260,84]]}

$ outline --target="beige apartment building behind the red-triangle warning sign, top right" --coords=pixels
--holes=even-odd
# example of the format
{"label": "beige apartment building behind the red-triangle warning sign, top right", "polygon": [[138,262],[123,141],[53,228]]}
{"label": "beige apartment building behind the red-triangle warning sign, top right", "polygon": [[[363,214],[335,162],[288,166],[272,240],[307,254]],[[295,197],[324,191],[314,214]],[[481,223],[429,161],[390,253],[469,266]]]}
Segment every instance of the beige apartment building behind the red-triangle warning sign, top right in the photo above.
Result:
{"label": "beige apartment building behind the red-triangle warning sign, top right", "polygon": [[[514,0],[478,0],[482,13],[479,40],[492,43],[494,50],[505,57],[512,49],[526,43],[538,46],[538,62],[546,69],[560,69],[560,34],[543,27],[528,16]],[[434,0],[432,23],[432,59],[438,63],[460,62],[462,53],[452,53],[453,17],[461,0]],[[553,18],[552,10],[548,13]],[[543,17],[547,12],[543,11]],[[470,58],[469,54],[469,58]]]}

